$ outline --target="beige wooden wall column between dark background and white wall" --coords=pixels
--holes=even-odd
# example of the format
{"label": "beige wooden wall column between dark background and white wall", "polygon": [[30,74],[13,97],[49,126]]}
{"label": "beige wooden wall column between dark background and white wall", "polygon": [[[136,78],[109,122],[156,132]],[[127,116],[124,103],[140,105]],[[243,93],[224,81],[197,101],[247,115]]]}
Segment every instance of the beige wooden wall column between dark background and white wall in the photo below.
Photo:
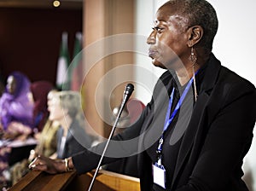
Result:
{"label": "beige wooden wall column between dark background and white wall", "polygon": [[[111,96],[107,95],[107,98],[105,95],[96,98],[96,88],[99,82],[114,67],[133,63],[133,54],[130,52],[120,52],[113,55],[106,54],[111,49],[111,43],[105,43],[103,39],[110,35],[134,32],[133,23],[134,3],[132,0],[84,1],[84,71],[86,73],[84,80],[84,111],[85,117],[90,124],[89,131],[91,132],[95,130],[97,134],[108,135],[109,125],[105,124],[104,118],[105,113],[108,114],[109,111],[104,107],[106,102],[111,107],[119,105],[125,86],[124,83],[117,85]],[[96,45],[99,41],[102,41],[102,43]],[[90,51],[90,47],[94,45],[97,48]],[[99,57],[99,59],[96,57]],[[94,60],[91,61],[91,59]],[[95,63],[91,63],[88,66],[89,62]],[[103,89],[106,90],[108,87],[113,86],[111,83],[115,83],[114,76],[112,81],[104,84]],[[102,91],[105,92],[105,90]],[[96,103],[98,107],[96,107]],[[100,116],[99,110],[106,110],[106,112],[103,116]]]}

